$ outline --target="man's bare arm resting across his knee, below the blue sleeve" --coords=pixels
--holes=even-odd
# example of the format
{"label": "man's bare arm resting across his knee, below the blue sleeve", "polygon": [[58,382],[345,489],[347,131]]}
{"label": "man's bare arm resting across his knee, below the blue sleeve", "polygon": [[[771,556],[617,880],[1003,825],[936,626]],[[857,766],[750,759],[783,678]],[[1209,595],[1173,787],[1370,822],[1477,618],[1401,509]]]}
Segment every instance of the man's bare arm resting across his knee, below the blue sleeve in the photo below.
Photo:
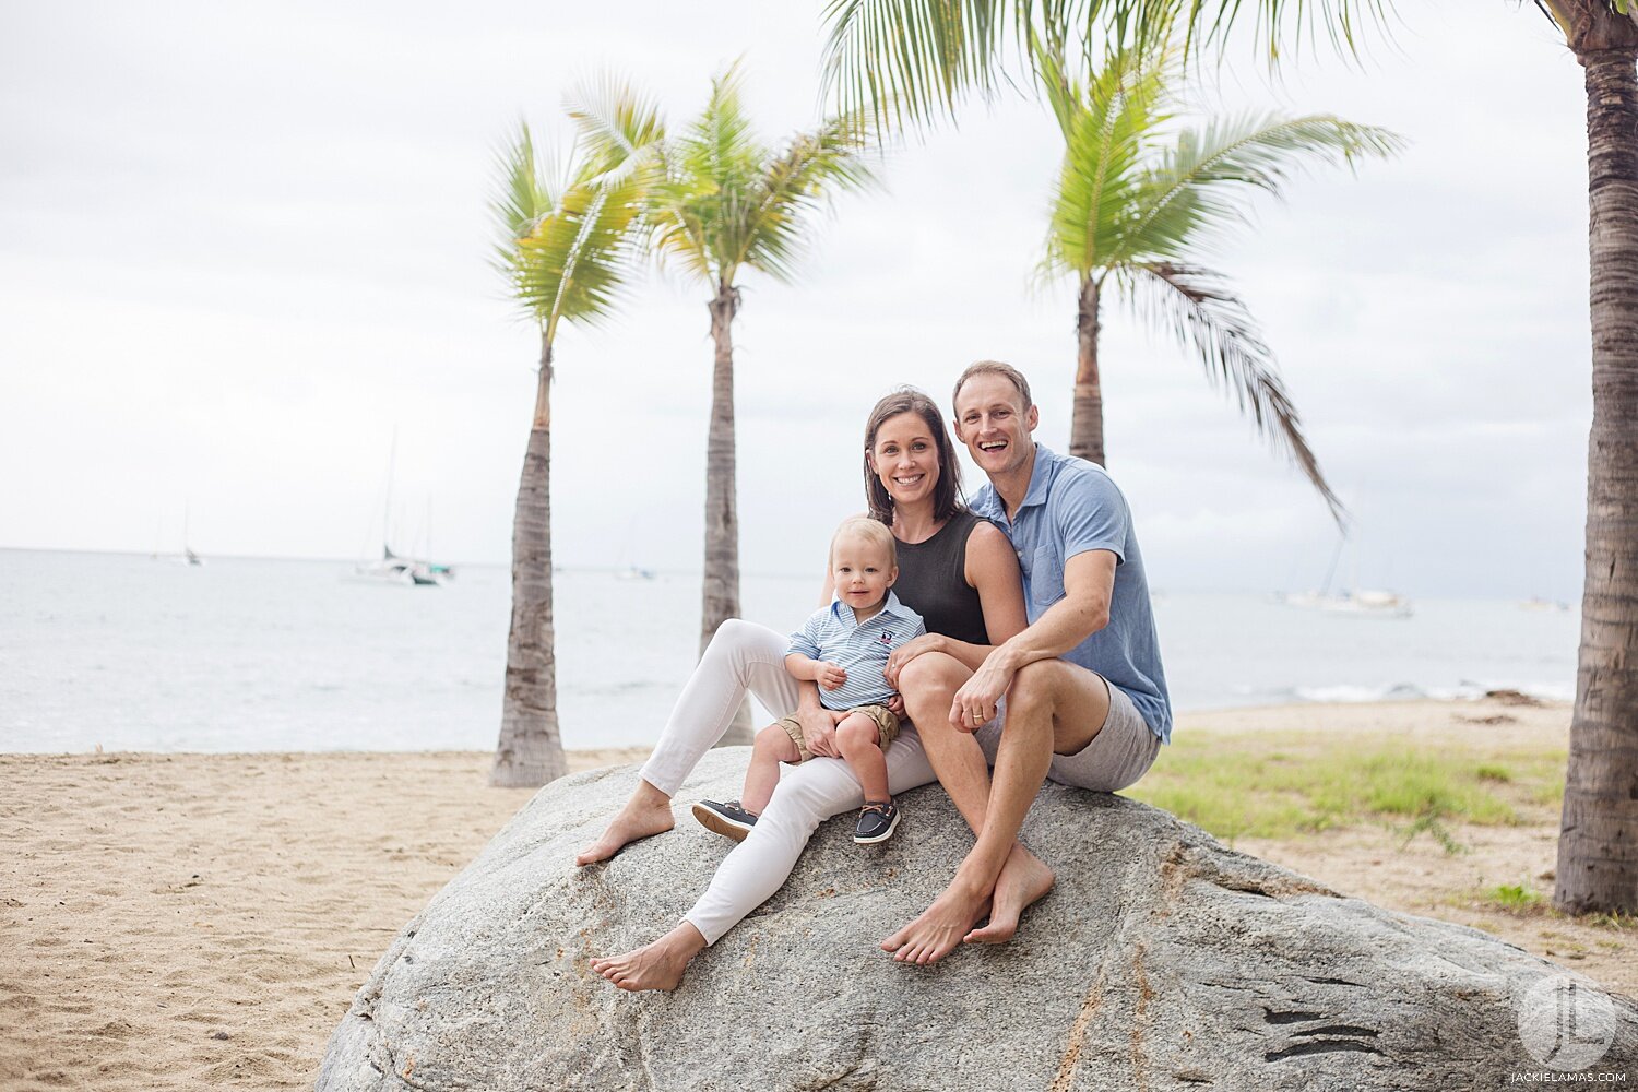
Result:
{"label": "man's bare arm resting across his knee, below the blue sleeve", "polygon": [[996,702],[1012,686],[1012,676],[1037,660],[1052,660],[1109,625],[1115,589],[1112,550],[1086,550],[1063,563],[1063,599],[1052,604],[1017,637],[984,657],[973,678],[955,693],[950,724],[966,732],[996,715]]}

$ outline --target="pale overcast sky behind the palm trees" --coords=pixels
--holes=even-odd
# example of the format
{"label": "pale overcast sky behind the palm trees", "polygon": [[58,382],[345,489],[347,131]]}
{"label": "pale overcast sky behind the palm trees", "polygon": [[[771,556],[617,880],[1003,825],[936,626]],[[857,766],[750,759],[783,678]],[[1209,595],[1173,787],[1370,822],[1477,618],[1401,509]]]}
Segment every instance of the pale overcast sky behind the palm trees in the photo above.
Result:
{"label": "pale overcast sky behind the palm trees", "polygon": [[[812,126],[822,3],[0,0],[0,547],[506,563],[539,344],[488,265],[495,152],[614,74],[681,126],[744,57],[770,142]],[[1581,69],[1532,5],[1399,5],[1345,62],[1237,49],[1202,111],[1330,111],[1409,146],[1315,170],[1210,254],[1353,516],[1338,580],[1576,601],[1590,422]],[[1068,447],[1075,290],[1035,277],[1058,136],[970,102],[835,201],[801,280],[742,277],[740,560],[817,573],[863,421],[1001,359]],[[562,565],[696,570],[709,291],[636,280],[560,331]],[[1150,580],[1317,586],[1307,481],[1129,309],[1104,314],[1109,470]],[[387,499],[388,468],[391,493]],[[968,491],[980,485],[966,467]]]}

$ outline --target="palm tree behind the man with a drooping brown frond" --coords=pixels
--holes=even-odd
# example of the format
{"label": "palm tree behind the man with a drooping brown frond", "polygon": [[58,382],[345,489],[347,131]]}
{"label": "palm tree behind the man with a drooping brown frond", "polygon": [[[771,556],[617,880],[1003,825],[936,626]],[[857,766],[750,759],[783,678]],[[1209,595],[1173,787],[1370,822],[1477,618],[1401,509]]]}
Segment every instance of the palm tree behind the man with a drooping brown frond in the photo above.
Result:
{"label": "palm tree behind the man with a drooping brown frond", "polygon": [[1097,339],[1112,288],[1147,303],[1152,318],[1192,345],[1207,377],[1232,386],[1240,409],[1284,442],[1342,522],[1251,313],[1194,255],[1245,223],[1235,196],[1278,196],[1299,159],[1386,156],[1399,139],[1328,115],[1215,118],[1168,136],[1176,54],[1112,49],[1083,85],[1070,79],[1061,44],[1035,41],[1034,49],[1065,142],[1042,272],[1076,283],[1070,453],[1104,465]]}

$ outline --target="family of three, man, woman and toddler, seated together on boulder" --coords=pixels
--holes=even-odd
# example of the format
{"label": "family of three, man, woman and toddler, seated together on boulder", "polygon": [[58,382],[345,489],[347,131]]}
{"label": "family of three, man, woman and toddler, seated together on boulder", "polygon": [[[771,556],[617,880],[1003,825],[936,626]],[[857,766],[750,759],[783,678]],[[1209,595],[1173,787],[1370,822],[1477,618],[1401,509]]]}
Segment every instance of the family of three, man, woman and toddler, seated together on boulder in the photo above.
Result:
{"label": "family of three, man, woman and toddler, seated together on boulder", "polygon": [[[1002,943],[1053,884],[1017,840],[1042,779],[1114,792],[1170,740],[1125,498],[1102,467],[1030,439],[1038,413],[1016,368],[971,365],[953,401],[955,437],[989,478],[973,506],[962,504],[932,399],[906,388],[876,403],[865,427],[870,519],[847,521],[830,544],[834,602],[791,637],[724,622],[637,789],[575,858],[603,861],[670,830],[672,796],[745,691],[788,712],[758,733],[742,797],[695,809],[740,838],[695,907],[654,943],[591,961],[614,986],[673,989],[690,959],[778,891],[822,820],[863,809],[855,840],[881,842],[898,824],[894,794],[934,778],[976,845],[881,948],[925,964],[963,941]],[[781,778],[780,763],[794,768]]]}

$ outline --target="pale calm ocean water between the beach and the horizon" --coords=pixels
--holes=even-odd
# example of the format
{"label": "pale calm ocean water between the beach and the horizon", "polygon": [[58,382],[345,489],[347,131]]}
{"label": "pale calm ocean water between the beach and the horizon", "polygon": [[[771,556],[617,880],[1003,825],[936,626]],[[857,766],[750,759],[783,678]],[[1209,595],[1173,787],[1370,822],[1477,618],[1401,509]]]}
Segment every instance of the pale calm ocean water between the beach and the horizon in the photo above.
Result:
{"label": "pale calm ocean water between the beach and the horizon", "polygon": [[[346,580],[347,562],[0,550],[0,751],[488,750],[509,571],[446,588]],[[744,578],[745,617],[794,629],[817,581]],[[567,747],[657,737],[698,652],[698,575],[557,575]],[[1569,699],[1574,611],[1419,599],[1409,619],[1273,596],[1161,593],[1173,704],[1476,696]]]}

